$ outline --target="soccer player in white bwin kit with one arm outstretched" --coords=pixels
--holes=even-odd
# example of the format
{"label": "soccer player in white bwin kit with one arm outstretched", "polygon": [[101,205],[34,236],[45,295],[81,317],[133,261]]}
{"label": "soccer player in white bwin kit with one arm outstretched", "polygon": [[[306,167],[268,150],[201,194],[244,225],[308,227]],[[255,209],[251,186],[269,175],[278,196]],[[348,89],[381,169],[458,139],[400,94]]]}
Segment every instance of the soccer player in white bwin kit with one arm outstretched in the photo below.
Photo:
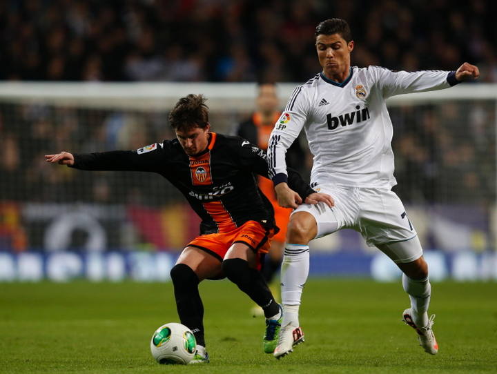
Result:
{"label": "soccer player in white bwin kit with one arm outstretched", "polygon": [[[270,173],[281,206],[295,208],[289,222],[282,264],[284,313],[274,355],[280,358],[303,341],[298,321],[302,288],[309,273],[309,242],[353,228],[388,255],[402,270],[411,302],[402,317],[416,330],[422,348],[435,355],[438,344],[428,317],[431,294],[428,266],[402,201],[391,191],[393,127],[385,100],[393,95],[441,90],[479,77],[463,63],[454,72],[393,72],[378,66],[351,67],[354,47],[343,19],[322,21],[315,31],[322,72],[293,91],[275,124],[268,147]],[[285,152],[304,128],[314,156],[311,186],[331,195],[334,206],[298,206],[286,184]]]}

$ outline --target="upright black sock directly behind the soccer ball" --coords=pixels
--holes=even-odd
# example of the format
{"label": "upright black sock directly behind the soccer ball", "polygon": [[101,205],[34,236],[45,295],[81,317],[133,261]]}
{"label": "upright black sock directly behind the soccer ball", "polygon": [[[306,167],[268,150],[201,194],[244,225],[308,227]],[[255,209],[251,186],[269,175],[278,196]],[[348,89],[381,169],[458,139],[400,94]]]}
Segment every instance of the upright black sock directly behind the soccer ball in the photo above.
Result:
{"label": "upright black sock directly behind the soccer ball", "polygon": [[204,304],[198,291],[199,279],[190,266],[177,264],[170,270],[179,320],[190,328],[197,344],[205,346]]}

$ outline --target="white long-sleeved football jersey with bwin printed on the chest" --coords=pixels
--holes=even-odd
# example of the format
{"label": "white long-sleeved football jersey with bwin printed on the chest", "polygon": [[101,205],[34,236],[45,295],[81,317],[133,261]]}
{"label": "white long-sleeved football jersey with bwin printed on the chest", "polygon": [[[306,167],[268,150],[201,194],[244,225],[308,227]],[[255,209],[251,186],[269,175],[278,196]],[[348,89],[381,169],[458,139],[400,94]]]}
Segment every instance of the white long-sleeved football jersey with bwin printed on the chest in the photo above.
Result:
{"label": "white long-sleeved football jersey with bwin printed on the chest", "polygon": [[286,150],[304,128],[314,156],[311,186],[395,186],[393,127],[385,100],[456,83],[454,72],[393,72],[378,66],[353,66],[342,83],[316,75],[295,88],[271,132],[268,163],[273,181],[285,181]]}

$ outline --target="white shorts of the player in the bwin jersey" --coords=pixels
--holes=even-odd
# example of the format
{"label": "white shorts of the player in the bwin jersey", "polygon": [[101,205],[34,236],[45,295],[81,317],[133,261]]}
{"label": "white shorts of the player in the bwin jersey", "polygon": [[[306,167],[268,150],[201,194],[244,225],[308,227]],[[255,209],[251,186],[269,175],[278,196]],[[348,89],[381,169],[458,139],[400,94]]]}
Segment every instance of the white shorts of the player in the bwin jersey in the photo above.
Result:
{"label": "white shorts of the player in the bwin jersey", "polygon": [[395,262],[411,262],[421,257],[418,234],[402,201],[393,191],[332,185],[316,186],[314,190],[331,195],[335,206],[302,204],[292,214],[311,213],[318,223],[316,237],[341,228],[352,228],[364,237],[368,245],[377,246]]}

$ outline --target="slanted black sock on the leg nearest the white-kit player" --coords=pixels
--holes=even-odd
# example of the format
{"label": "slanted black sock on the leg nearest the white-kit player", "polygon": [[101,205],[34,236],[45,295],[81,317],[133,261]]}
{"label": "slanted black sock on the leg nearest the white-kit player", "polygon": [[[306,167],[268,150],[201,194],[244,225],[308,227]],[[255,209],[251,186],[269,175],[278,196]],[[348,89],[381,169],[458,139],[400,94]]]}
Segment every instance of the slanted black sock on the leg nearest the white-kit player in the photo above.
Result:
{"label": "slanted black sock on the leg nearest the white-kit player", "polygon": [[262,273],[250,268],[244,259],[225,259],[222,268],[226,277],[264,310],[266,318],[280,311]]}

